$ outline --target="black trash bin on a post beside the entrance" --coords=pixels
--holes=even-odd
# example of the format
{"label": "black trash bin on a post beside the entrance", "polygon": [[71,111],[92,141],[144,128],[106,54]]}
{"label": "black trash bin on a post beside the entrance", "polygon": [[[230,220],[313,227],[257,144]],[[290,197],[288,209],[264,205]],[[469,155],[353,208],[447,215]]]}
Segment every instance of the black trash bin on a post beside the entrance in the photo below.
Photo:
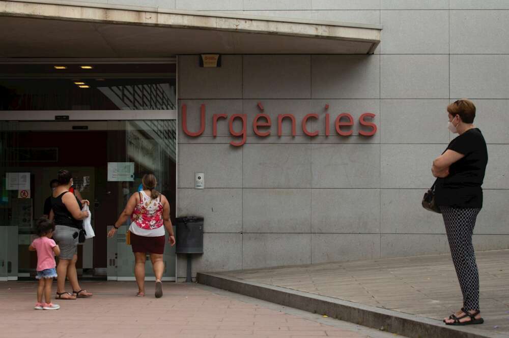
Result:
{"label": "black trash bin on a post beside the entrance", "polygon": [[177,254],[187,254],[186,282],[191,280],[191,254],[203,254],[203,217],[187,216],[176,219]]}

